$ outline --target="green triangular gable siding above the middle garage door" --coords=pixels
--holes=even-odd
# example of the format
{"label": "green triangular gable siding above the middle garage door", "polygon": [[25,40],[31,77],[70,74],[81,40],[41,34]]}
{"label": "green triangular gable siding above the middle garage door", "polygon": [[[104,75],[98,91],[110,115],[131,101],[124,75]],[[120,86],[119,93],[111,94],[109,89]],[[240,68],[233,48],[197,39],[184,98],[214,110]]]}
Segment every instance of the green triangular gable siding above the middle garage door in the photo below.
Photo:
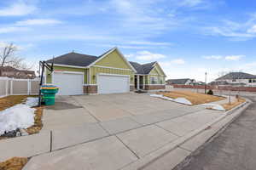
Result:
{"label": "green triangular gable siding above the middle garage door", "polygon": [[114,68],[122,68],[122,69],[131,69],[131,66],[125,62],[125,59],[123,59],[117,50],[114,50],[111,54],[108,54],[98,62],[96,62],[95,65],[102,65],[102,66],[108,66],[108,67],[114,67]]}

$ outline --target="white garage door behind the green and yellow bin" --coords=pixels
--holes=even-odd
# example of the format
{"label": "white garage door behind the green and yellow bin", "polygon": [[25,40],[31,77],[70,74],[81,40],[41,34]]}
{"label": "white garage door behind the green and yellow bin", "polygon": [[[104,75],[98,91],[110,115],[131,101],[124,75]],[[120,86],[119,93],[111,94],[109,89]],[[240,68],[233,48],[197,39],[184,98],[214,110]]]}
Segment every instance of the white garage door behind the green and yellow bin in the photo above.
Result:
{"label": "white garage door behind the green and yellow bin", "polygon": [[83,74],[55,72],[53,83],[59,89],[57,95],[83,94]]}

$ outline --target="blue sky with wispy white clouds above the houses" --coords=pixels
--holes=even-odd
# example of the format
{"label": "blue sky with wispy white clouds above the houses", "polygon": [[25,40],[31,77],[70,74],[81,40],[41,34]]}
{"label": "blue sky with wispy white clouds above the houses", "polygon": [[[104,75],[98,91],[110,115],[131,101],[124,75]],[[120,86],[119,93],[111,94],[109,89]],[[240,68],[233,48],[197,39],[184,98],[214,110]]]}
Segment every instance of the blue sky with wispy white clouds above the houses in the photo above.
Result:
{"label": "blue sky with wispy white clouds above the houses", "polygon": [[129,60],[158,60],[168,78],[213,80],[256,74],[255,37],[253,0],[0,1],[0,47],[14,42],[28,63],[117,46]]}

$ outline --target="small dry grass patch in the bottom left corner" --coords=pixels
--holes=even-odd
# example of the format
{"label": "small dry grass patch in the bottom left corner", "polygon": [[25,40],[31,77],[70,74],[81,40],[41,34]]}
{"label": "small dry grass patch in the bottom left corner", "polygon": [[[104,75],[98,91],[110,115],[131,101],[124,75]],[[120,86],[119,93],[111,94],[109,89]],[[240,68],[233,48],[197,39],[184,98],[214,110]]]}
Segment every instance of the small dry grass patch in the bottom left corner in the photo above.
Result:
{"label": "small dry grass patch in the bottom left corner", "polygon": [[0,170],[21,170],[27,163],[26,157],[13,157],[0,162]]}

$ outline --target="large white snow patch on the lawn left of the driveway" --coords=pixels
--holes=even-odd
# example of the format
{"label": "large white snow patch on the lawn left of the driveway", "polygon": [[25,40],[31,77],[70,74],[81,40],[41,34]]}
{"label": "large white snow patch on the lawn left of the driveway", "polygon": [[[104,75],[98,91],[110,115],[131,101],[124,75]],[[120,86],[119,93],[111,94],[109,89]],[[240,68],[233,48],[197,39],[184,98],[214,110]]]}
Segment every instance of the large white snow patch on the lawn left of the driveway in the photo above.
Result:
{"label": "large white snow patch on the lawn left of the driveway", "polygon": [[27,128],[34,124],[34,111],[29,105],[15,105],[0,111],[0,135],[4,132]]}

